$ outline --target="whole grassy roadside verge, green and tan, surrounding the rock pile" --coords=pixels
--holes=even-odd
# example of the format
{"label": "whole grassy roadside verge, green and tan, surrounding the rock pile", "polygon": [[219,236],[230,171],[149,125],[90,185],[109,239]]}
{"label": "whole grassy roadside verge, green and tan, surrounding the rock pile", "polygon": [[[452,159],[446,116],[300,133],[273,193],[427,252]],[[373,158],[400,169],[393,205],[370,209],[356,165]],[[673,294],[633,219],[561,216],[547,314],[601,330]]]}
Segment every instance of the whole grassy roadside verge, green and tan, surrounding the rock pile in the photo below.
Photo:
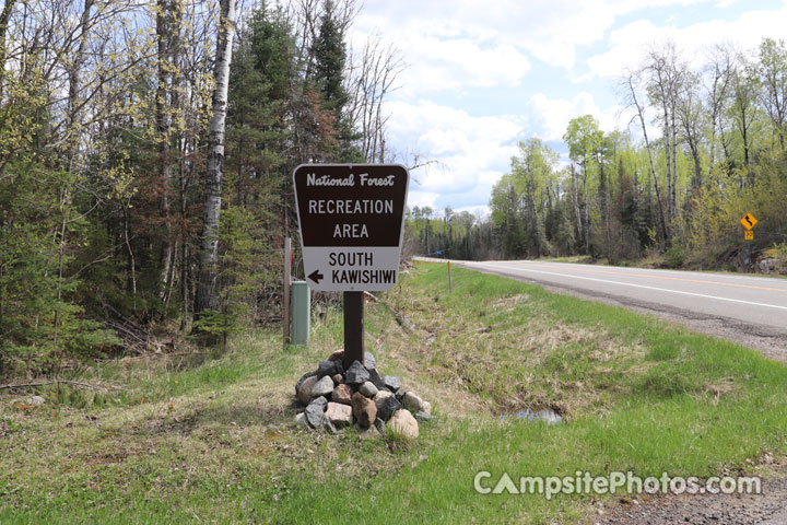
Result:
{"label": "whole grassy roadside verge, green and tan, surrounding the rock pile", "polygon": [[[384,300],[416,328],[369,304],[368,348],[441,418],[416,442],[293,424],[294,382],[341,347],[331,313],[308,349],[246,335],[99,364],[83,380],[127,386],[102,402],[0,399],[0,523],[575,523],[590,497],[481,495],[473,477],[709,476],[786,450],[787,366],[753,350],[463,269],[449,294],[444,265]],[[566,422],[497,417],[524,406]]]}

